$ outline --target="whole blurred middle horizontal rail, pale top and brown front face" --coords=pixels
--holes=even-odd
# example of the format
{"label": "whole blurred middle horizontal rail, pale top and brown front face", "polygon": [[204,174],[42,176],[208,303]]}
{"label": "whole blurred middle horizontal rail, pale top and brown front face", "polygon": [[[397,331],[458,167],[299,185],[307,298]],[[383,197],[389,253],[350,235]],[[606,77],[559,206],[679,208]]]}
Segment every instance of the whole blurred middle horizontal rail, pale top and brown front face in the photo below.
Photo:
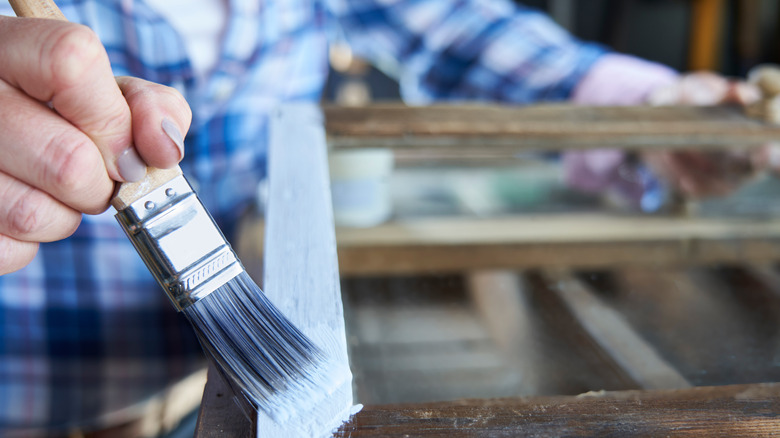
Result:
{"label": "whole blurred middle horizontal rail, pale top and brown front face", "polygon": [[338,229],[337,239],[342,275],[780,259],[780,222],[773,220],[606,214],[420,219]]}

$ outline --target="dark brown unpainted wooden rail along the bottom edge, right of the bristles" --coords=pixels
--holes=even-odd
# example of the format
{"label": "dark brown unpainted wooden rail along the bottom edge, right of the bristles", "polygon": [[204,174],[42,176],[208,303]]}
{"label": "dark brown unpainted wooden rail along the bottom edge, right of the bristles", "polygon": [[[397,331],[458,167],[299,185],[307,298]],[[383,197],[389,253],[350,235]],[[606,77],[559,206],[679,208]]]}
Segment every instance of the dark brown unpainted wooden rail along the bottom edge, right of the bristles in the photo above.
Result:
{"label": "dark brown unpainted wooden rail along the bottom edge, right of the bristles", "polygon": [[337,437],[780,434],[780,384],[367,406]]}

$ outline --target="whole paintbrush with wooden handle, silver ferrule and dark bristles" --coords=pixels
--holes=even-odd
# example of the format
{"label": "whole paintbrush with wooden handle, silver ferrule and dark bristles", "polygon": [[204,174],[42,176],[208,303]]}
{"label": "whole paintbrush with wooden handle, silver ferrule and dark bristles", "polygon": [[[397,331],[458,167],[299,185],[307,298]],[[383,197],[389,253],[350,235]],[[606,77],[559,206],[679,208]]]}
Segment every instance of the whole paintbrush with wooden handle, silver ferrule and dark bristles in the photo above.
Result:
{"label": "whole paintbrush with wooden handle, silver ferrule and dark bristles", "polygon": [[[65,20],[51,0],[10,0],[20,17]],[[271,418],[305,412],[348,374],[268,301],[181,170],[148,168],[111,205],[149,271],[234,389]],[[242,401],[243,400],[243,401]]]}

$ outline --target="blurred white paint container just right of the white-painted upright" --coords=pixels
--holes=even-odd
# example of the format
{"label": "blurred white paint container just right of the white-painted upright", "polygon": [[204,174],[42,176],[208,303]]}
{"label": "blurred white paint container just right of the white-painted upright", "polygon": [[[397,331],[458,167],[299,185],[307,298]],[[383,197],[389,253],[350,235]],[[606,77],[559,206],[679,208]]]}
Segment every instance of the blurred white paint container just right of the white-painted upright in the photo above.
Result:
{"label": "blurred white paint container just right of the white-painted upright", "polygon": [[337,226],[371,227],[390,218],[389,180],[393,161],[389,149],[330,152],[333,216]]}

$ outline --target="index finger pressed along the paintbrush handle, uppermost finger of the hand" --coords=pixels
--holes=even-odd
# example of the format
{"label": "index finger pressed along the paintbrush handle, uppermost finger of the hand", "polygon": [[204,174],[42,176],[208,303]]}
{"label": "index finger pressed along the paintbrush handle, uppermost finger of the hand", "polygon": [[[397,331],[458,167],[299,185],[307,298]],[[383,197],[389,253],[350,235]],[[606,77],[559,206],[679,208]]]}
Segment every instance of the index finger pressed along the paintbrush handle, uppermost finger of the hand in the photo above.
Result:
{"label": "index finger pressed along the paintbrush handle, uppermost finger of the hand", "polygon": [[0,17],[0,79],[48,103],[84,132],[115,181],[143,177],[132,144],[130,109],[108,55],[86,26],[48,19]]}

